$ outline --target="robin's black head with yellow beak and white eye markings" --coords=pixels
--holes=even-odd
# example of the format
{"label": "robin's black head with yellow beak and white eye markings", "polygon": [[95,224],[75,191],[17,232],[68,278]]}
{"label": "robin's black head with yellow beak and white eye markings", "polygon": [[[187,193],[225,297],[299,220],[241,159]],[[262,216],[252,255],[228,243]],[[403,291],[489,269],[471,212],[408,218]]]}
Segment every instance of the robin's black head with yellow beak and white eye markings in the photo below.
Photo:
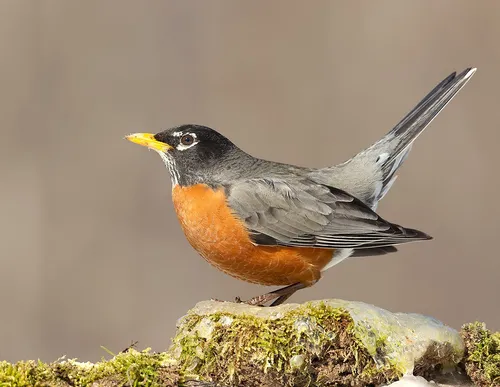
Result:
{"label": "robin's black head with yellow beak and white eye markings", "polygon": [[210,184],[248,156],[222,134],[201,125],[181,125],[155,135],[137,133],[127,139],[157,151],[173,183],[180,185]]}

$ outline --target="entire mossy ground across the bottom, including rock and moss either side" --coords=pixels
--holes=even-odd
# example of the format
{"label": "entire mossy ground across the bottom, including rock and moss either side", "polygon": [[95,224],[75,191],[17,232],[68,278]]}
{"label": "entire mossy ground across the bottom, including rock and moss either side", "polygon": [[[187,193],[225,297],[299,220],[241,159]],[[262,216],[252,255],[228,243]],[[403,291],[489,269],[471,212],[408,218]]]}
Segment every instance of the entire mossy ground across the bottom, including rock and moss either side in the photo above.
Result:
{"label": "entire mossy ground across the bottom, including rock and moss either side", "polygon": [[464,326],[462,337],[433,318],[359,302],[260,308],[206,301],[179,320],[167,352],[130,348],[95,364],[0,362],[0,387],[323,387],[397,380],[402,386],[425,382],[419,376],[471,385],[463,370],[477,386],[499,386],[500,334],[475,323]]}

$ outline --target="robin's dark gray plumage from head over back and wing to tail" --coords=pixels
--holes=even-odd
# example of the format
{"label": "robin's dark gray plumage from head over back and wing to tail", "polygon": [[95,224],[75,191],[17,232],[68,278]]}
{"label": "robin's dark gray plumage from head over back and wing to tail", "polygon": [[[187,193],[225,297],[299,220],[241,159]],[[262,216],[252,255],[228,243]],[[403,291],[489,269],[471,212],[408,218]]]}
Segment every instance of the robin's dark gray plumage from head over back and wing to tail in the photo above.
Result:
{"label": "robin's dark gray plumage from head over back and wing to tail", "polygon": [[[216,131],[183,125],[155,135],[172,146],[165,163],[175,184],[225,189],[229,207],[259,245],[335,249],[328,267],[354,256],[396,251],[394,245],[430,239],[375,213],[377,203],[415,139],[476,69],[439,83],[389,133],[350,160],[311,169],[255,158]],[[191,135],[189,144],[182,138]]]}

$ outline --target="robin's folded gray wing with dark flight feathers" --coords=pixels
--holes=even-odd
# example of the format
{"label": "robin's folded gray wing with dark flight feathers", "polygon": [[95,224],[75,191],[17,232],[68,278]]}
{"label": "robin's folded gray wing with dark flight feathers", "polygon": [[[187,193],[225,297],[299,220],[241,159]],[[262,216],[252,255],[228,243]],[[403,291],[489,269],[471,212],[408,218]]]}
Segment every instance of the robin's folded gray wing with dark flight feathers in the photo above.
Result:
{"label": "robin's folded gray wing with dark flight feathers", "polygon": [[430,238],[385,221],[344,191],[305,178],[236,181],[226,189],[229,206],[258,245],[360,249]]}

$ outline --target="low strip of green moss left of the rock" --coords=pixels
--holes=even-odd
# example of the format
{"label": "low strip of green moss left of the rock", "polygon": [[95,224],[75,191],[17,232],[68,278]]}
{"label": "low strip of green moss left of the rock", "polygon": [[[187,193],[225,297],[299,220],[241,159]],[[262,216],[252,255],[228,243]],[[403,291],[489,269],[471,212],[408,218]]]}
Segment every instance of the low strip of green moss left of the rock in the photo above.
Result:
{"label": "low strip of green moss left of the rock", "polygon": [[177,375],[177,367],[168,354],[149,350],[130,349],[95,364],[75,360],[49,364],[0,362],[1,387],[176,386]]}

